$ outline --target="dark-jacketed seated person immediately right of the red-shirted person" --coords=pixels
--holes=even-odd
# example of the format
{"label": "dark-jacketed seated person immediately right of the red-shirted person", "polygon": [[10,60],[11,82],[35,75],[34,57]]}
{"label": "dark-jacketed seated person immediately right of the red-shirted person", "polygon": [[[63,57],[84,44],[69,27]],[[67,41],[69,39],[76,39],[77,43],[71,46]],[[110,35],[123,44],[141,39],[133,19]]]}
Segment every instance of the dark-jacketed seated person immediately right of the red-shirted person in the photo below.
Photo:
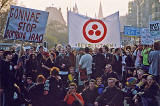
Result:
{"label": "dark-jacketed seated person immediately right of the red-shirted person", "polygon": [[91,79],[89,81],[89,89],[82,92],[82,97],[84,99],[84,106],[94,106],[96,97],[98,96],[98,89],[96,87],[96,81]]}

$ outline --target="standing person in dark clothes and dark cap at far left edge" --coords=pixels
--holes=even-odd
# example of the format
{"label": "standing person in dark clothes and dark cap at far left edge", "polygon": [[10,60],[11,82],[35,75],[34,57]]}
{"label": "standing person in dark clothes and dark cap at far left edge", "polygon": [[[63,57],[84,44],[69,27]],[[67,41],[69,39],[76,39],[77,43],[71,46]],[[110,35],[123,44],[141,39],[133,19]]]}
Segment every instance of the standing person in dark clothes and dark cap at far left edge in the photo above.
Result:
{"label": "standing person in dark clothes and dark cap at far left edge", "polygon": [[[0,91],[4,94],[4,106],[13,106],[15,88],[15,66],[12,63],[12,52],[4,52],[4,60],[0,64],[1,86]],[[0,93],[1,93],[0,92]]]}

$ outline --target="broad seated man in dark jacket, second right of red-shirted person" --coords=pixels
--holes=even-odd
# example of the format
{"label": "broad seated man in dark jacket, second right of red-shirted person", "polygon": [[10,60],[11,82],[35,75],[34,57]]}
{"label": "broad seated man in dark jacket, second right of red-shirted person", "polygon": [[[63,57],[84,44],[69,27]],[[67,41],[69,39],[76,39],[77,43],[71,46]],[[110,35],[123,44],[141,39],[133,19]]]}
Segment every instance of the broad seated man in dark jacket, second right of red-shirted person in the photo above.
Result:
{"label": "broad seated man in dark jacket, second right of red-shirted person", "polygon": [[116,79],[108,79],[108,87],[95,100],[95,106],[124,106],[124,94],[115,85]]}

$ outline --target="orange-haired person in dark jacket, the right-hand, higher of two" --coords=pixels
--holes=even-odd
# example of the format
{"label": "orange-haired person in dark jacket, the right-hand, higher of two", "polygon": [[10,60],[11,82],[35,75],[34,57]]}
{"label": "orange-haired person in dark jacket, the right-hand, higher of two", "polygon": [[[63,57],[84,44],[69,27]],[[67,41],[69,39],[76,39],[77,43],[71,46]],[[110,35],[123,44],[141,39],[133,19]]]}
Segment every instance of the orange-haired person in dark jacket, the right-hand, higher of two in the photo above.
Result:
{"label": "orange-haired person in dark jacket, the right-hand, higher of two", "polygon": [[44,84],[45,106],[59,106],[65,94],[62,92],[61,78],[58,76],[59,69],[54,68],[50,72]]}

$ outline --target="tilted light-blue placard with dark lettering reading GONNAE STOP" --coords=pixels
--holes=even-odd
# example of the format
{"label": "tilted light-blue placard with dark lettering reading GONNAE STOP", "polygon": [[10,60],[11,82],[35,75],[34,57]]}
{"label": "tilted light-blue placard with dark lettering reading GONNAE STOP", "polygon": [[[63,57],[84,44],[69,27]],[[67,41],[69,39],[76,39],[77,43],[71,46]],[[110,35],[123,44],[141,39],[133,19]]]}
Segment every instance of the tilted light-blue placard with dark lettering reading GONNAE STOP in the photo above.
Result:
{"label": "tilted light-blue placard with dark lettering reading GONNAE STOP", "polygon": [[29,42],[42,42],[48,12],[11,6],[4,38]]}

